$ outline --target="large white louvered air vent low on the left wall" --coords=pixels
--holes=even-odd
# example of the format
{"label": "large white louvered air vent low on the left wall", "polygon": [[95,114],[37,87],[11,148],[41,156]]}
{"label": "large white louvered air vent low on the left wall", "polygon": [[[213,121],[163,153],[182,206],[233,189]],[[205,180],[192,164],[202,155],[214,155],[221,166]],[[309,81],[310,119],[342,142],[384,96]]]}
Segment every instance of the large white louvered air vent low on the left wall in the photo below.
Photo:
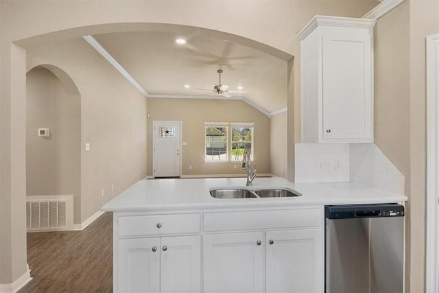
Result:
{"label": "large white louvered air vent low on the left wall", "polygon": [[27,231],[73,228],[73,196],[27,196]]}

